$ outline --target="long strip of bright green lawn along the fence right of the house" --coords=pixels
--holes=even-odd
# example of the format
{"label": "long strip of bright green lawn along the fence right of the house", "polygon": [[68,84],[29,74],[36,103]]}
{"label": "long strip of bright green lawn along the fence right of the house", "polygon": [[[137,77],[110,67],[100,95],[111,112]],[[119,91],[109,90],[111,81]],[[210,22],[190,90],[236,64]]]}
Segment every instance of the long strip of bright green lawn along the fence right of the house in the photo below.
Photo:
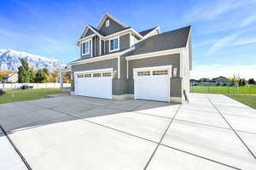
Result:
{"label": "long strip of bright green lawn along the fence right of the house", "polygon": [[191,86],[190,92],[201,94],[256,94],[256,86]]}

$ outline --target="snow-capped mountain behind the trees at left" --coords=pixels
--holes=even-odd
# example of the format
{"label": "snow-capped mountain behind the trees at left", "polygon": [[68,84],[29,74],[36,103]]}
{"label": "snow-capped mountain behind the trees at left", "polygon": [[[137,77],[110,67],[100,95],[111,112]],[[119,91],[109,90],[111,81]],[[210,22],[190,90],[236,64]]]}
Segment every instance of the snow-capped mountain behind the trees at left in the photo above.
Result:
{"label": "snow-capped mountain behind the trees at left", "polygon": [[12,49],[0,49],[0,70],[18,71],[21,59],[26,59],[28,65],[36,70],[47,68],[49,71],[54,71],[66,66],[61,60],[49,59]]}

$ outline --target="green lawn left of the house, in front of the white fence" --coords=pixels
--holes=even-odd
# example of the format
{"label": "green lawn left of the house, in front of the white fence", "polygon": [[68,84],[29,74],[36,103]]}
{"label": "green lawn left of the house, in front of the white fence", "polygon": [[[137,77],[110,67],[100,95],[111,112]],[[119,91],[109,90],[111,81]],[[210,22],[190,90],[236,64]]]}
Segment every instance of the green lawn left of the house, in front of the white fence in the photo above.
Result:
{"label": "green lawn left of the house, in front of the white fence", "polygon": [[[60,88],[42,88],[42,89],[15,89],[5,90],[6,94],[0,96],[0,104],[25,101],[31,99],[43,99],[49,94],[64,94]],[[12,97],[14,94],[14,97]]]}

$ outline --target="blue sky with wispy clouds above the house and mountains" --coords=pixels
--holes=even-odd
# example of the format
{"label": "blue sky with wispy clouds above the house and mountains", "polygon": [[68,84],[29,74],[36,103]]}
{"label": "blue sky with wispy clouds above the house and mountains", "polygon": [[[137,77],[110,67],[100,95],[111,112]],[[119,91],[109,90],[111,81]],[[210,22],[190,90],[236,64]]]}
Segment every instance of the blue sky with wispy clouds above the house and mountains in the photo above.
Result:
{"label": "blue sky with wispy clouds above the house and mountains", "polygon": [[84,26],[108,12],[137,31],[192,26],[192,77],[256,78],[255,0],[1,0],[0,48],[69,62]]}

